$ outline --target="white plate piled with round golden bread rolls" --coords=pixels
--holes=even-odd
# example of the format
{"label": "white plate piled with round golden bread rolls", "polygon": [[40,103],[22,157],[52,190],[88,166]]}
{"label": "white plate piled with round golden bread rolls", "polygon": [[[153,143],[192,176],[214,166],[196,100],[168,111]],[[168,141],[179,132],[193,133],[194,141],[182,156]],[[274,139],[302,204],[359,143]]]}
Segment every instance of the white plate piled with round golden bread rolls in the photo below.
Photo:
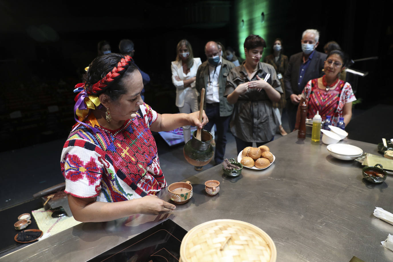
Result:
{"label": "white plate piled with round golden bread rolls", "polygon": [[260,147],[246,147],[237,156],[237,161],[241,163],[243,167],[256,170],[270,167],[274,160],[275,156],[265,145]]}

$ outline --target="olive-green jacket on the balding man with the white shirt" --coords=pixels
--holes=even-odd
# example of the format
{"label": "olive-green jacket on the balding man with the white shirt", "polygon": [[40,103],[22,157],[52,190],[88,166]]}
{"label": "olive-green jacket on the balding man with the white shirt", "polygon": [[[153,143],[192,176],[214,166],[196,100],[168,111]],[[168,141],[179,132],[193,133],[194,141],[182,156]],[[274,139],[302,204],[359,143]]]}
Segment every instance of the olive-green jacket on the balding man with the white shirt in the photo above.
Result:
{"label": "olive-green jacket on the balding man with the white shirt", "polygon": [[[231,115],[233,111],[233,104],[228,103],[226,97],[224,97],[224,92],[226,86],[226,77],[228,76],[229,71],[231,71],[231,69],[234,67],[235,65],[232,62],[222,58],[222,65],[219,75],[220,116]],[[208,61],[205,61],[199,66],[198,71],[196,71],[195,88],[199,92],[199,97],[198,97],[199,101],[200,101],[200,92],[202,88],[206,88],[208,82],[209,82]],[[206,100],[204,101],[203,108],[206,109]]]}

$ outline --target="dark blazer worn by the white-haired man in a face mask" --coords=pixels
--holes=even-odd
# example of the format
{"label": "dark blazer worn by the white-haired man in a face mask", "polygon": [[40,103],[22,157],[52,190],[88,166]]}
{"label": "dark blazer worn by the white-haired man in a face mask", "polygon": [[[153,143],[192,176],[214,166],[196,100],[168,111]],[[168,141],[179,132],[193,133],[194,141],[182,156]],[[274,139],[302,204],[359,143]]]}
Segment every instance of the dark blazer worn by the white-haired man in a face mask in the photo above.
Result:
{"label": "dark blazer worn by the white-haired man in a face mask", "polygon": [[[286,68],[284,74],[284,85],[285,85],[285,96],[286,99],[290,97],[290,95],[299,94],[298,88],[298,80],[299,80],[299,71],[301,63],[303,62],[303,52],[291,55],[289,58],[288,67]],[[306,86],[307,82],[311,79],[316,79],[324,75],[323,62],[326,60],[327,55],[318,51],[315,51],[312,59],[310,61],[309,67],[307,68],[303,79],[301,79],[300,86],[303,88]],[[302,88],[302,90],[303,90]]]}

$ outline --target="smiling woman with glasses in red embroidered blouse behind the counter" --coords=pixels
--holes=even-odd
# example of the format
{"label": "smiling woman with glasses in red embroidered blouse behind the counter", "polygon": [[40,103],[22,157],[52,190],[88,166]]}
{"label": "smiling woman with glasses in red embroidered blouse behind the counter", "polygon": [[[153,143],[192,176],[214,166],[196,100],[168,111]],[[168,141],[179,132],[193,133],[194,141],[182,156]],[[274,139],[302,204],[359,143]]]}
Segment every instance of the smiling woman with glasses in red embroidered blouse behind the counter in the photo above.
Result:
{"label": "smiling woman with glasses in red embroidered blouse behind the counter", "polygon": [[[324,64],[325,75],[310,80],[303,92],[301,101],[309,105],[307,118],[313,118],[317,111],[326,119],[327,115],[332,118],[332,125],[336,126],[340,117],[344,117],[345,125],[348,125],[352,116],[352,102],[356,97],[348,82],[339,79],[340,73],[345,69],[348,59],[341,50],[333,50],[327,56]],[[300,111],[296,115],[295,130],[299,128]]]}

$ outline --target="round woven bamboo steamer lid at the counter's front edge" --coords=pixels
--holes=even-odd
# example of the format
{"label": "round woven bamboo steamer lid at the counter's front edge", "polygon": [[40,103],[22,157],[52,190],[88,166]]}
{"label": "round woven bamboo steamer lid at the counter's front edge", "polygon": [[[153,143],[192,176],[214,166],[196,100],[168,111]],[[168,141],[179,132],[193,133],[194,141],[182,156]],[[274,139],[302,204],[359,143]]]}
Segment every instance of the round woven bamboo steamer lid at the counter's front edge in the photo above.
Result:
{"label": "round woven bamboo steamer lid at the counter's front edge", "polygon": [[193,227],[180,246],[181,262],[275,262],[277,251],[268,234],[255,225],[219,219]]}

